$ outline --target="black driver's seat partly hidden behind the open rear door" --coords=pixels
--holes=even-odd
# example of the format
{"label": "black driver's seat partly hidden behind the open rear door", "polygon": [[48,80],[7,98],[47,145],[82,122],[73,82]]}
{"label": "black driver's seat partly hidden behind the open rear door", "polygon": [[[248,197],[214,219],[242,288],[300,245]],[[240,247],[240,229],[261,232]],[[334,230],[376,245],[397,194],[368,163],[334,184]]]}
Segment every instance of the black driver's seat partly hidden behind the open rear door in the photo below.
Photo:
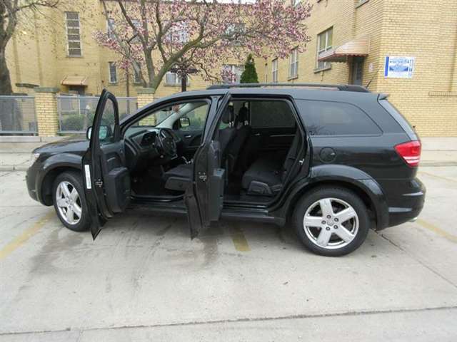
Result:
{"label": "black driver's seat partly hidden behind the open rear door", "polygon": [[[221,118],[222,122],[229,126],[219,130],[219,143],[221,146],[221,154],[224,156],[224,151],[227,145],[233,139],[236,129],[231,127],[233,122],[233,107],[227,107],[224,115]],[[165,188],[168,190],[186,191],[186,186],[192,178],[194,164],[180,164],[172,169],[164,172],[162,176],[165,182]]]}

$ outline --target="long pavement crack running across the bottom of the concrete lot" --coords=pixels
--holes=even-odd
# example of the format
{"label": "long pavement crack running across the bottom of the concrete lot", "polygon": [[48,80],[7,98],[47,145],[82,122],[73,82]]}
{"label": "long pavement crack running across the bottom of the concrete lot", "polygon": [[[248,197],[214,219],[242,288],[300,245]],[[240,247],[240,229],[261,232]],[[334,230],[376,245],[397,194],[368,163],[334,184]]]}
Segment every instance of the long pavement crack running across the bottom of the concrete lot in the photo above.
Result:
{"label": "long pavement crack running across the bottom of the concrete lot", "polygon": [[287,316],[270,316],[270,317],[253,317],[253,318],[233,318],[233,319],[219,319],[213,321],[187,321],[187,322],[176,322],[176,323],[162,323],[162,324],[150,324],[150,325],[138,325],[138,326],[110,326],[106,328],[86,328],[86,329],[56,329],[56,330],[40,330],[40,331],[11,331],[0,333],[0,336],[7,335],[23,335],[26,333],[62,333],[66,331],[101,331],[101,330],[120,330],[128,328],[163,328],[173,326],[200,326],[205,324],[219,324],[219,323],[243,323],[243,322],[261,322],[261,321],[280,321],[287,319],[306,319],[306,318],[329,318],[329,317],[344,317],[344,316],[365,316],[365,315],[381,315],[381,314],[405,314],[414,312],[426,312],[426,311],[443,311],[443,310],[457,310],[457,305],[453,306],[436,306],[426,308],[412,308],[412,309],[381,309],[381,310],[359,310],[359,311],[342,311],[328,314],[296,314]]}

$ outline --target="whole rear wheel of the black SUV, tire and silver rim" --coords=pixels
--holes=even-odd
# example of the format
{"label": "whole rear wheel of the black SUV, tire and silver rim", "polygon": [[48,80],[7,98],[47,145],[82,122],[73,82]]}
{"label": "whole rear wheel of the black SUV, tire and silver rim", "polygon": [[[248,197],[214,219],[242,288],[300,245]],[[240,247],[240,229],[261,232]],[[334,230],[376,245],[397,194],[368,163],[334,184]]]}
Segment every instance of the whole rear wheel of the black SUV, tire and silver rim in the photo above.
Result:
{"label": "whole rear wheel of the black SUV, tire and silver rim", "polygon": [[355,251],[370,228],[366,205],[343,187],[321,187],[306,193],[295,208],[293,222],[304,246],[326,257]]}

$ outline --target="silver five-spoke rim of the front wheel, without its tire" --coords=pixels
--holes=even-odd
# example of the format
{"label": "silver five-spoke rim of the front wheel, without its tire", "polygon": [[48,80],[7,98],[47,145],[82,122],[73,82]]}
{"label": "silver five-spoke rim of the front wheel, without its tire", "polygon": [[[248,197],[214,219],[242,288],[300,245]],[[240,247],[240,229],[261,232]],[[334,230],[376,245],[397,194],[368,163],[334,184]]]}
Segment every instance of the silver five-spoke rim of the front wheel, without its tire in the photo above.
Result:
{"label": "silver five-spoke rim of the front wheel, without its tire", "polygon": [[62,181],[56,188],[56,204],[62,219],[68,224],[77,224],[81,219],[81,198],[76,187]]}

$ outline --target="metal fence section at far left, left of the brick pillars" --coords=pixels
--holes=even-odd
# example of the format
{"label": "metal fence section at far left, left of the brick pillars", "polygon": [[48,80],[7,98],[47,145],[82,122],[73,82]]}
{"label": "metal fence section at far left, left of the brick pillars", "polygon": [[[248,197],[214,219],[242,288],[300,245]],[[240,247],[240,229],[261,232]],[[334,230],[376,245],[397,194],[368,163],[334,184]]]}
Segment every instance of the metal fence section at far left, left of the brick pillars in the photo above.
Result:
{"label": "metal fence section at far left, left of the brick pillars", "polygon": [[35,99],[26,95],[0,95],[0,135],[36,135]]}

